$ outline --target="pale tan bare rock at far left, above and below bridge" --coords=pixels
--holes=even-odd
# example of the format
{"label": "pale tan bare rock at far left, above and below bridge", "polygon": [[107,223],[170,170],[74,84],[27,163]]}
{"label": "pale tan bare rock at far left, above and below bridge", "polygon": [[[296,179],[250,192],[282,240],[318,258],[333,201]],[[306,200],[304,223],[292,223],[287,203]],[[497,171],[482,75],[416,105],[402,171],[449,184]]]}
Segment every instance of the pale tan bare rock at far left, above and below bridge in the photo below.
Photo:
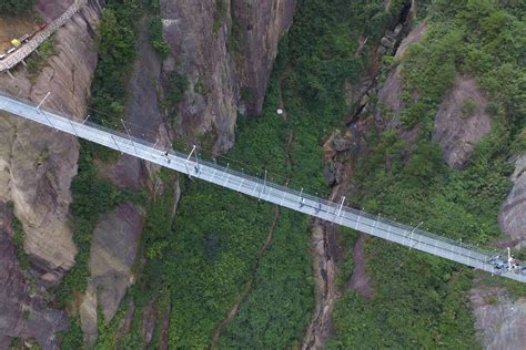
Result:
{"label": "pale tan bare rock at far left, above and below bridge", "polygon": [[[51,92],[47,105],[78,117],[85,115],[97,64],[93,28],[98,11],[99,6],[90,2],[55,33],[59,53],[38,76],[30,80],[20,65],[12,72],[13,80],[0,76],[2,86],[33,101]],[[67,216],[78,153],[74,137],[18,117],[2,115],[0,120],[0,199],[13,202],[27,233],[26,251],[43,272],[63,272],[74,264],[77,249]]]}

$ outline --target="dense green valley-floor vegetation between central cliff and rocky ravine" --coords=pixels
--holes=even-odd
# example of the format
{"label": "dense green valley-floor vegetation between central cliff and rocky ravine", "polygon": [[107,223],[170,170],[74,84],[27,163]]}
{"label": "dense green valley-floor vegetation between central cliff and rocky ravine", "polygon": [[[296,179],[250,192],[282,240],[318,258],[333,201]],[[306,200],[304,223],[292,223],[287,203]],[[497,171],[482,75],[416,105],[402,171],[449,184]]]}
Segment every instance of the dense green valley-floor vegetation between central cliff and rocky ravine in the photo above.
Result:
{"label": "dense green valley-floor vegetation between central cliff and rocky ravine", "polygon": [[[361,34],[354,28],[360,16],[371,16],[354,18],[351,11],[342,13],[342,8],[324,1],[301,8],[289,40],[280,48],[262,115],[239,121],[236,145],[229,157],[245,164],[246,172],[261,175],[267,169],[274,182],[283,183],[287,177],[290,184],[302,184],[311,192],[324,191],[320,145],[345,116],[341,93],[345,80],[354,81],[365,66],[366,58],[354,55]],[[378,2],[375,9],[381,11],[383,6]],[[314,20],[320,11],[330,18],[326,23]],[[332,28],[342,20],[350,25],[338,29],[345,31],[345,41],[352,42],[345,51],[331,44]],[[390,16],[382,19],[388,20]],[[342,72],[346,65],[350,68]],[[312,72],[313,68],[317,71]],[[311,83],[308,87],[304,80]],[[286,121],[275,115],[280,95],[287,110]],[[250,280],[253,284],[239,312],[222,329],[220,347],[280,349],[300,344],[314,300],[310,219],[280,209],[271,245],[260,255],[272,212],[267,204],[201,182],[183,187],[173,243],[166,245],[166,251],[172,253],[165,253],[173,258],[162,267],[172,291],[172,347],[208,348],[213,331]]]}

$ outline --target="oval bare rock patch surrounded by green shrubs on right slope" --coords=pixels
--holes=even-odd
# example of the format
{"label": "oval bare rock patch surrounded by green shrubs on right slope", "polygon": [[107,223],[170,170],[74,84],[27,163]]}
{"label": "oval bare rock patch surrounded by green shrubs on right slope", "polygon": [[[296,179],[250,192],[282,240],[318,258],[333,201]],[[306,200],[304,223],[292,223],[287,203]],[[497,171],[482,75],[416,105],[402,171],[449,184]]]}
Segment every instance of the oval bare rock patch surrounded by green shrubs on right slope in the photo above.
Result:
{"label": "oval bare rock patch surrounded by green shrubs on right slope", "polygon": [[475,145],[492,128],[487,100],[474,78],[458,76],[435,117],[433,140],[438,142],[446,163],[461,168]]}

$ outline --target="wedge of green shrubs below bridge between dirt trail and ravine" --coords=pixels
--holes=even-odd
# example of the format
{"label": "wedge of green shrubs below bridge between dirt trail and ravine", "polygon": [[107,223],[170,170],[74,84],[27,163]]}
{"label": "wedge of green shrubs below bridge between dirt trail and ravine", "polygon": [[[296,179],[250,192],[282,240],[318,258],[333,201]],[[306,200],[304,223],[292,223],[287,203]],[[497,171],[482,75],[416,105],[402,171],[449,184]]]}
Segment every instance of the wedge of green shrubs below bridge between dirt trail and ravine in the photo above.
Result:
{"label": "wedge of green shrubs below bridge between dirt trail and ravine", "polygon": [[[308,218],[283,212],[272,245],[255,271],[254,288],[222,333],[222,349],[301,346],[313,302],[311,257],[306,249]],[[296,253],[299,248],[303,251]]]}

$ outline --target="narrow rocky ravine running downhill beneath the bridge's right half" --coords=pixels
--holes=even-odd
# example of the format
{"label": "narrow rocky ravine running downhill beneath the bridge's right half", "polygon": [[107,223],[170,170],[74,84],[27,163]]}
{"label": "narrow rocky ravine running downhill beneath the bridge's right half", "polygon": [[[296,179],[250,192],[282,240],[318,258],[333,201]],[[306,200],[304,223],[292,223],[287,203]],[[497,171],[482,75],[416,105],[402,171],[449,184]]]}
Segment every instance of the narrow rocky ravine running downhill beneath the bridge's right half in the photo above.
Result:
{"label": "narrow rocky ravine running downhill beneath the bridge's right half", "polygon": [[[413,6],[413,3],[412,3]],[[388,7],[388,4],[387,4]],[[333,135],[324,144],[325,163],[333,162],[336,164],[335,177],[340,172],[340,177],[335,181],[332,187],[328,200],[337,203],[342,197],[347,195],[352,184],[354,173],[354,159],[360,150],[360,135],[366,132],[368,125],[362,125],[361,117],[366,115],[370,96],[376,93],[377,79],[381,72],[381,54],[388,52],[388,55],[394,55],[396,48],[407,34],[407,28],[411,24],[408,10],[404,8],[404,13],[401,14],[399,23],[395,23],[396,28],[393,31],[387,30],[385,35],[390,38],[390,47],[376,45],[373,47],[373,54],[370,59],[370,70],[361,79],[358,86],[358,95],[355,97],[354,107],[352,109],[344,125],[348,131],[343,133],[343,138],[348,143],[345,150],[335,150],[334,137],[340,134],[335,131]],[[358,54],[365,44],[365,40],[360,41],[360,48],[356,51]],[[381,51],[383,50],[383,51]],[[391,50],[391,51],[388,51]],[[362,87],[360,87],[362,86]],[[358,125],[357,125],[358,124]],[[338,154],[347,153],[343,162],[338,162]],[[340,164],[337,164],[340,163]],[[334,326],[332,321],[333,309],[341,296],[341,290],[336,286],[336,276],[338,272],[338,262],[343,258],[342,247],[338,245],[337,226],[316,219],[312,226],[312,254],[314,257],[314,280],[316,285],[316,305],[311,323],[303,339],[302,349],[322,349],[325,340],[334,334]],[[366,264],[364,255],[365,237],[360,236],[355,243],[352,257],[355,259],[354,270],[347,282],[348,289],[355,289],[360,295],[372,298],[373,289],[370,285],[370,278],[366,275]]]}

